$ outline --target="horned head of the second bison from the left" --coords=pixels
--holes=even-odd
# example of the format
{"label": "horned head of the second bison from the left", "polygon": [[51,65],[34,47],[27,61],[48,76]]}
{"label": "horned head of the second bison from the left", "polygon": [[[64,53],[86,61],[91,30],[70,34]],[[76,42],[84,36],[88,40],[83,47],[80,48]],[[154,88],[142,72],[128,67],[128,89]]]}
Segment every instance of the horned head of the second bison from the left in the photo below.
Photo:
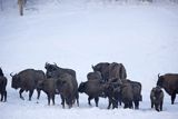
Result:
{"label": "horned head of the second bison from the left", "polygon": [[20,77],[18,75],[14,75],[14,76],[10,75],[10,76],[12,77],[11,87],[14,88],[14,89],[20,88],[20,83],[21,83]]}

